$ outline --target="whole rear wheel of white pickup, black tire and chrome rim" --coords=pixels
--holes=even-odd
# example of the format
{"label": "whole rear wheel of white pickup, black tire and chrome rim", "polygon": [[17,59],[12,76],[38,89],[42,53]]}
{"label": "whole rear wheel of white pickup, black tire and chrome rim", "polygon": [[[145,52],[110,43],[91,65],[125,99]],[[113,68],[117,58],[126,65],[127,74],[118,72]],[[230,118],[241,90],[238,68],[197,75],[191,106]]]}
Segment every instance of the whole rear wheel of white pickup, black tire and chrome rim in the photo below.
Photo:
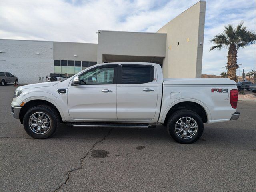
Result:
{"label": "whole rear wheel of white pickup, black tire and chrome rim", "polygon": [[196,142],[204,131],[202,118],[191,110],[178,110],[170,116],[167,122],[170,136],[179,143]]}

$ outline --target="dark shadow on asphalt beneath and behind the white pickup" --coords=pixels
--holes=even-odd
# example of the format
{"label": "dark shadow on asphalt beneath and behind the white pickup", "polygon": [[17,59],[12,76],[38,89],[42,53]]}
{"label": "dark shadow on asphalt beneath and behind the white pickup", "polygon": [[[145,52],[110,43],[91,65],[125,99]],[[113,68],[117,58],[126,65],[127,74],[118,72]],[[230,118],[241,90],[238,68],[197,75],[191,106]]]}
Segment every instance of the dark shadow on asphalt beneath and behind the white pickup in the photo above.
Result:
{"label": "dark shadow on asphalt beneath and behind the white pickup", "polygon": [[[248,146],[248,149],[255,148],[255,129],[244,131],[241,128],[233,126],[206,125],[202,137],[192,145],[218,146],[219,148],[241,148]],[[109,128],[78,128],[68,127],[65,124],[59,128],[49,139],[84,139],[98,140],[102,135],[108,132]],[[246,139],[245,139],[246,138]],[[109,142],[141,142],[141,143],[170,143],[178,144],[167,133],[166,127],[159,125],[156,128],[113,128],[108,136]],[[191,144],[178,144],[182,146],[191,146]]]}

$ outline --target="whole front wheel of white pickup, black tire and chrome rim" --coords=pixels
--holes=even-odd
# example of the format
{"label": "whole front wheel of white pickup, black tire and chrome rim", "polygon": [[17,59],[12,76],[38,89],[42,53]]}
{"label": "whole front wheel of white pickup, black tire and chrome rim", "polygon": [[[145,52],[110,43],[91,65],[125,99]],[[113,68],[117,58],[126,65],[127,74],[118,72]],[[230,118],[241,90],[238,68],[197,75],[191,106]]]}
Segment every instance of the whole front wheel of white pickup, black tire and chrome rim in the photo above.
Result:
{"label": "whole front wheel of white pickup, black tire and chrome rim", "polygon": [[23,118],[25,131],[36,139],[44,139],[54,134],[60,126],[56,110],[47,105],[38,105],[29,109]]}

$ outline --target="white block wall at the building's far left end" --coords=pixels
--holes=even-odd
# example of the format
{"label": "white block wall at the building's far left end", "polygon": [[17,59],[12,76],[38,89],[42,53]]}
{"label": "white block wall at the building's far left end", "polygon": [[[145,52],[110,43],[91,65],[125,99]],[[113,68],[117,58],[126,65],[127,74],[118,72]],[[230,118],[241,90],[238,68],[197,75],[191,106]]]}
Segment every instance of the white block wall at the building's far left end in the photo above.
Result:
{"label": "white block wall at the building's far left end", "polygon": [[0,39],[0,71],[12,73],[22,84],[42,82],[39,77],[45,81],[54,68],[52,48],[52,42]]}

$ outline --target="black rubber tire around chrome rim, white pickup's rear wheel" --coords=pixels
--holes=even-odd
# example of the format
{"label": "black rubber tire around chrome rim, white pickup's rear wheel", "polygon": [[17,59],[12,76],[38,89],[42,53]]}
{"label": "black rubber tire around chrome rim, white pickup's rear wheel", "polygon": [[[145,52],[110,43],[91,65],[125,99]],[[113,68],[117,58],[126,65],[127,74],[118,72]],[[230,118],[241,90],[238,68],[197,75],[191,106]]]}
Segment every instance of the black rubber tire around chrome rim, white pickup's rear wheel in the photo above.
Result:
{"label": "black rubber tire around chrome rim, white pickup's rear wheel", "polygon": [[[197,123],[198,130],[197,130],[196,134],[194,136],[192,136],[192,138],[187,138],[187,139],[181,138],[180,136],[178,136],[178,134],[175,131],[176,130],[175,124],[182,117],[193,118]],[[196,142],[202,136],[203,131],[204,131],[204,123],[202,121],[202,118],[195,112],[193,112],[191,110],[182,109],[182,110],[178,110],[178,111],[174,112],[174,114],[172,114],[170,116],[170,118],[168,119],[168,122],[167,122],[167,131],[168,131],[169,135],[176,142],[182,143],[182,144],[190,144],[190,143]]]}

